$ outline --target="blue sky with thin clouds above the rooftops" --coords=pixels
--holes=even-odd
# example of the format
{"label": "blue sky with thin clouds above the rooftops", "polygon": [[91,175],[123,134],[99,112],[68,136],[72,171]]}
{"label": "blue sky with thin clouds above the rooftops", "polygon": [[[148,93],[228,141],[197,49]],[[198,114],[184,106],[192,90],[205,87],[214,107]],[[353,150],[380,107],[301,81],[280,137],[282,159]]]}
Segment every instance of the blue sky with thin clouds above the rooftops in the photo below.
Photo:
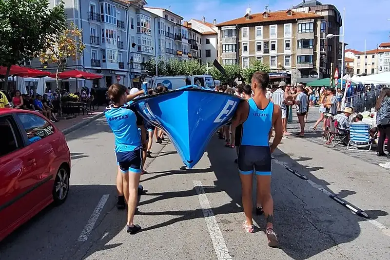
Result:
{"label": "blue sky with thin clouds above the rooftops", "polygon": [[[319,0],[337,7],[341,16],[343,7],[345,13],[345,42],[347,48],[364,50],[374,49],[381,42],[389,42],[390,35],[390,0]],[[296,5],[301,0],[147,0],[149,6],[167,8],[184,17],[217,22],[232,20],[245,15],[245,10],[251,6],[252,13],[264,11],[269,4],[271,11],[284,10]],[[342,31],[340,30],[340,33]],[[340,39],[341,40],[341,39]]]}

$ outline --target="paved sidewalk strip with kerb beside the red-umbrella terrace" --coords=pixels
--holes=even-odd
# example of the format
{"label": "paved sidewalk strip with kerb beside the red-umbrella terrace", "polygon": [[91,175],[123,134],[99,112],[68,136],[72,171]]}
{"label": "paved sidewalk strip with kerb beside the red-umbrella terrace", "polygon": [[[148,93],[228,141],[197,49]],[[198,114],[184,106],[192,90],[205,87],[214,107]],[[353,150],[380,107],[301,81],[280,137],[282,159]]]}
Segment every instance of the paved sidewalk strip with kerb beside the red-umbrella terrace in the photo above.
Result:
{"label": "paved sidewalk strip with kerb beside the red-umbrella terrace", "polygon": [[79,116],[76,115],[76,118],[68,119],[68,120],[60,120],[59,122],[55,123],[55,126],[59,128],[65,135],[76,130],[77,128],[80,128],[88,123],[90,123],[93,120],[98,119],[99,117],[103,116],[104,107],[101,107],[94,112],[92,112],[92,115],[90,113]]}

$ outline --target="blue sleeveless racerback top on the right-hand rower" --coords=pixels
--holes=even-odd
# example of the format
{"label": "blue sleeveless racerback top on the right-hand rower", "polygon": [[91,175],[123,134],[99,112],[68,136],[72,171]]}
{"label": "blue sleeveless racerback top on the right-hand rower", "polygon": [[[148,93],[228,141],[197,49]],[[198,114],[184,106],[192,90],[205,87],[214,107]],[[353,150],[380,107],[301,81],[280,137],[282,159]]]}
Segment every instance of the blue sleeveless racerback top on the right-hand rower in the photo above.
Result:
{"label": "blue sleeveless racerback top on the right-hand rower", "polygon": [[248,100],[248,118],[242,124],[241,145],[269,146],[268,134],[272,127],[273,102],[259,109],[253,99]]}

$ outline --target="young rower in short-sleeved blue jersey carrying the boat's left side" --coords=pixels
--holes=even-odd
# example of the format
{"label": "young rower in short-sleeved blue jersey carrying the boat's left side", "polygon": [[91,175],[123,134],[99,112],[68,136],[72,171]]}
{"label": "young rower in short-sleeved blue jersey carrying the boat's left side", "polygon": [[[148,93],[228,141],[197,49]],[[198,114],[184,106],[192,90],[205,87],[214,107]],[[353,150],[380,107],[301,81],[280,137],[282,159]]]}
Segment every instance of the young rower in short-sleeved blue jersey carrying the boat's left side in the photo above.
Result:
{"label": "young rower in short-sleeved blue jersey carrying the boat's left side", "polygon": [[127,232],[130,234],[136,234],[141,230],[139,225],[134,225],[133,219],[138,202],[138,184],[142,172],[142,144],[146,140],[144,134],[146,131],[141,131],[141,138],[138,128],[145,130],[143,120],[138,115],[137,110],[133,111],[127,107],[127,102],[143,93],[144,91],[140,90],[133,95],[127,95],[125,86],[113,84],[107,92],[113,104],[104,111],[108,125],[115,136],[115,153],[119,166],[117,206],[119,208],[123,205],[124,200],[128,204]]}

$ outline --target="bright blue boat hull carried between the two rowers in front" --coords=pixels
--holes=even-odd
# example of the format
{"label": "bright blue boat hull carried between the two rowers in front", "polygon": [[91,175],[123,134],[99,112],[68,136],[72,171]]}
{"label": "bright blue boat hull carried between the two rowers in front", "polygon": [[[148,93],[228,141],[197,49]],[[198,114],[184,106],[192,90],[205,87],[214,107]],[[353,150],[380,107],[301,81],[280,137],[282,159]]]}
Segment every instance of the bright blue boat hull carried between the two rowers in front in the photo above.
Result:
{"label": "bright blue boat hull carried between the two rowers in front", "polygon": [[241,100],[235,95],[186,86],[140,98],[133,105],[145,120],[170,137],[184,164],[192,168],[213,134],[232,120]]}

